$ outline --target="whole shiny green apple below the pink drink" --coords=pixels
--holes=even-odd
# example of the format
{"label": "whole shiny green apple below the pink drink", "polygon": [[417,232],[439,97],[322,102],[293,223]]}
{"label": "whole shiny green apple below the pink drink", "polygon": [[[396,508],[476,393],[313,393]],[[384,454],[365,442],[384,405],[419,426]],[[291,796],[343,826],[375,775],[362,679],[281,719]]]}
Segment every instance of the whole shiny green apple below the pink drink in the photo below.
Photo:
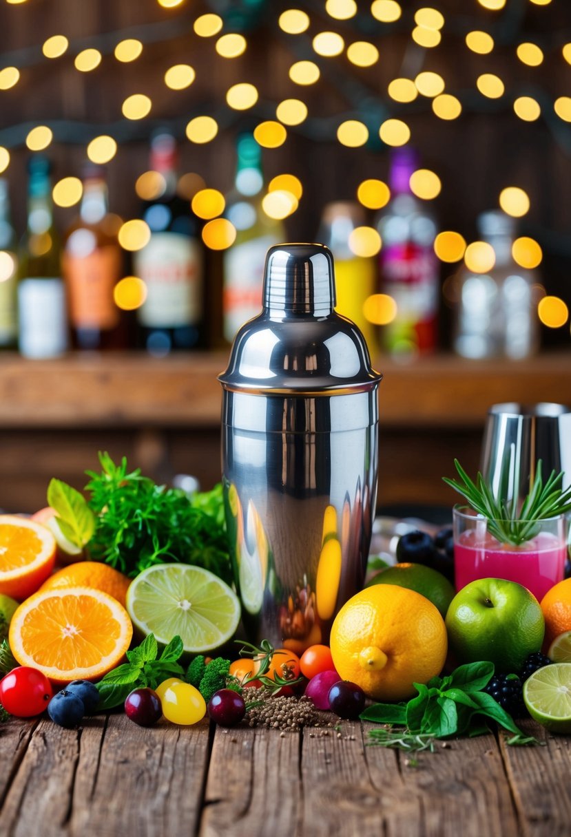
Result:
{"label": "whole shiny green apple below the pink drink", "polygon": [[446,629],[458,663],[490,660],[497,672],[517,674],[527,655],[541,650],[545,622],[527,588],[503,578],[481,578],[456,593]]}

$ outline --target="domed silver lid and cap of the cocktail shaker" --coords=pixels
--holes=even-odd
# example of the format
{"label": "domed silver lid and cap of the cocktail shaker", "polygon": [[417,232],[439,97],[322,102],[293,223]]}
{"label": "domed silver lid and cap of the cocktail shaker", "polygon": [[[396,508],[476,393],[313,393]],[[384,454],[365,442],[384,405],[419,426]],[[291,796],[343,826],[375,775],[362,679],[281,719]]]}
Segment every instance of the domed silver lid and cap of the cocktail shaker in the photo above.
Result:
{"label": "domed silver lid and cap of the cocktail shaker", "polygon": [[361,331],[334,310],[333,257],[323,244],[270,248],[263,306],[234,339],[219,376],[225,389],[333,395],[372,389],[383,377]]}

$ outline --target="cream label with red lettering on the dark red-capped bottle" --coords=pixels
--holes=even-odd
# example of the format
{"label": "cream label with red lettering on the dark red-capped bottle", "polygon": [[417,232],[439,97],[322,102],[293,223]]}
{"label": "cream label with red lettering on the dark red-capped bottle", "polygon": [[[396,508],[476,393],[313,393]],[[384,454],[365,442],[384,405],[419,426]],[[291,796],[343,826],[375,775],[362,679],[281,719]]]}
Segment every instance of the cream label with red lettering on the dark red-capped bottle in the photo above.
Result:
{"label": "cream label with red lettering on the dark red-capped bottle", "polygon": [[135,254],[136,275],[147,285],[138,309],[149,328],[177,328],[198,323],[203,315],[203,263],[198,241],[179,233],[153,233]]}

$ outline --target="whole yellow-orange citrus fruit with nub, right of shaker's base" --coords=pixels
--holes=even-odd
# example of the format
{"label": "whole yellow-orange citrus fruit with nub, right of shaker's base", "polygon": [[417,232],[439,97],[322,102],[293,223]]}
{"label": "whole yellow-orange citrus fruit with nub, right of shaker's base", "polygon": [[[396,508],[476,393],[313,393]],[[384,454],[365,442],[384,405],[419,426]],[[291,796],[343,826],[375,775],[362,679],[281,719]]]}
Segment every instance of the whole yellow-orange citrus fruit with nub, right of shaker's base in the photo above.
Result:
{"label": "whole yellow-orange citrus fruit with nub, right of shaker's base", "polygon": [[331,652],[342,680],[376,701],[402,701],[413,683],[440,675],[448,650],[435,605],[393,584],[365,588],[343,605],[332,624]]}

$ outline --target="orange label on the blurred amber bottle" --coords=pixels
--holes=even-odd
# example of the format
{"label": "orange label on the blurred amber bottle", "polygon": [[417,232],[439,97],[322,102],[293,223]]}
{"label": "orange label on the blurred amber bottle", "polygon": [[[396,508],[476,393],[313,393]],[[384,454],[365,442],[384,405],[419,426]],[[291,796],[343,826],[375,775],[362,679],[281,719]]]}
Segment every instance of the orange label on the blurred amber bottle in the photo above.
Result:
{"label": "orange label on the blurred amber bottle", "polygon": [[80,257],[64,253],[69,321],[74,328],[108,330],[119,322],[113,288],[121,277],[121,250],[108,244]]}

